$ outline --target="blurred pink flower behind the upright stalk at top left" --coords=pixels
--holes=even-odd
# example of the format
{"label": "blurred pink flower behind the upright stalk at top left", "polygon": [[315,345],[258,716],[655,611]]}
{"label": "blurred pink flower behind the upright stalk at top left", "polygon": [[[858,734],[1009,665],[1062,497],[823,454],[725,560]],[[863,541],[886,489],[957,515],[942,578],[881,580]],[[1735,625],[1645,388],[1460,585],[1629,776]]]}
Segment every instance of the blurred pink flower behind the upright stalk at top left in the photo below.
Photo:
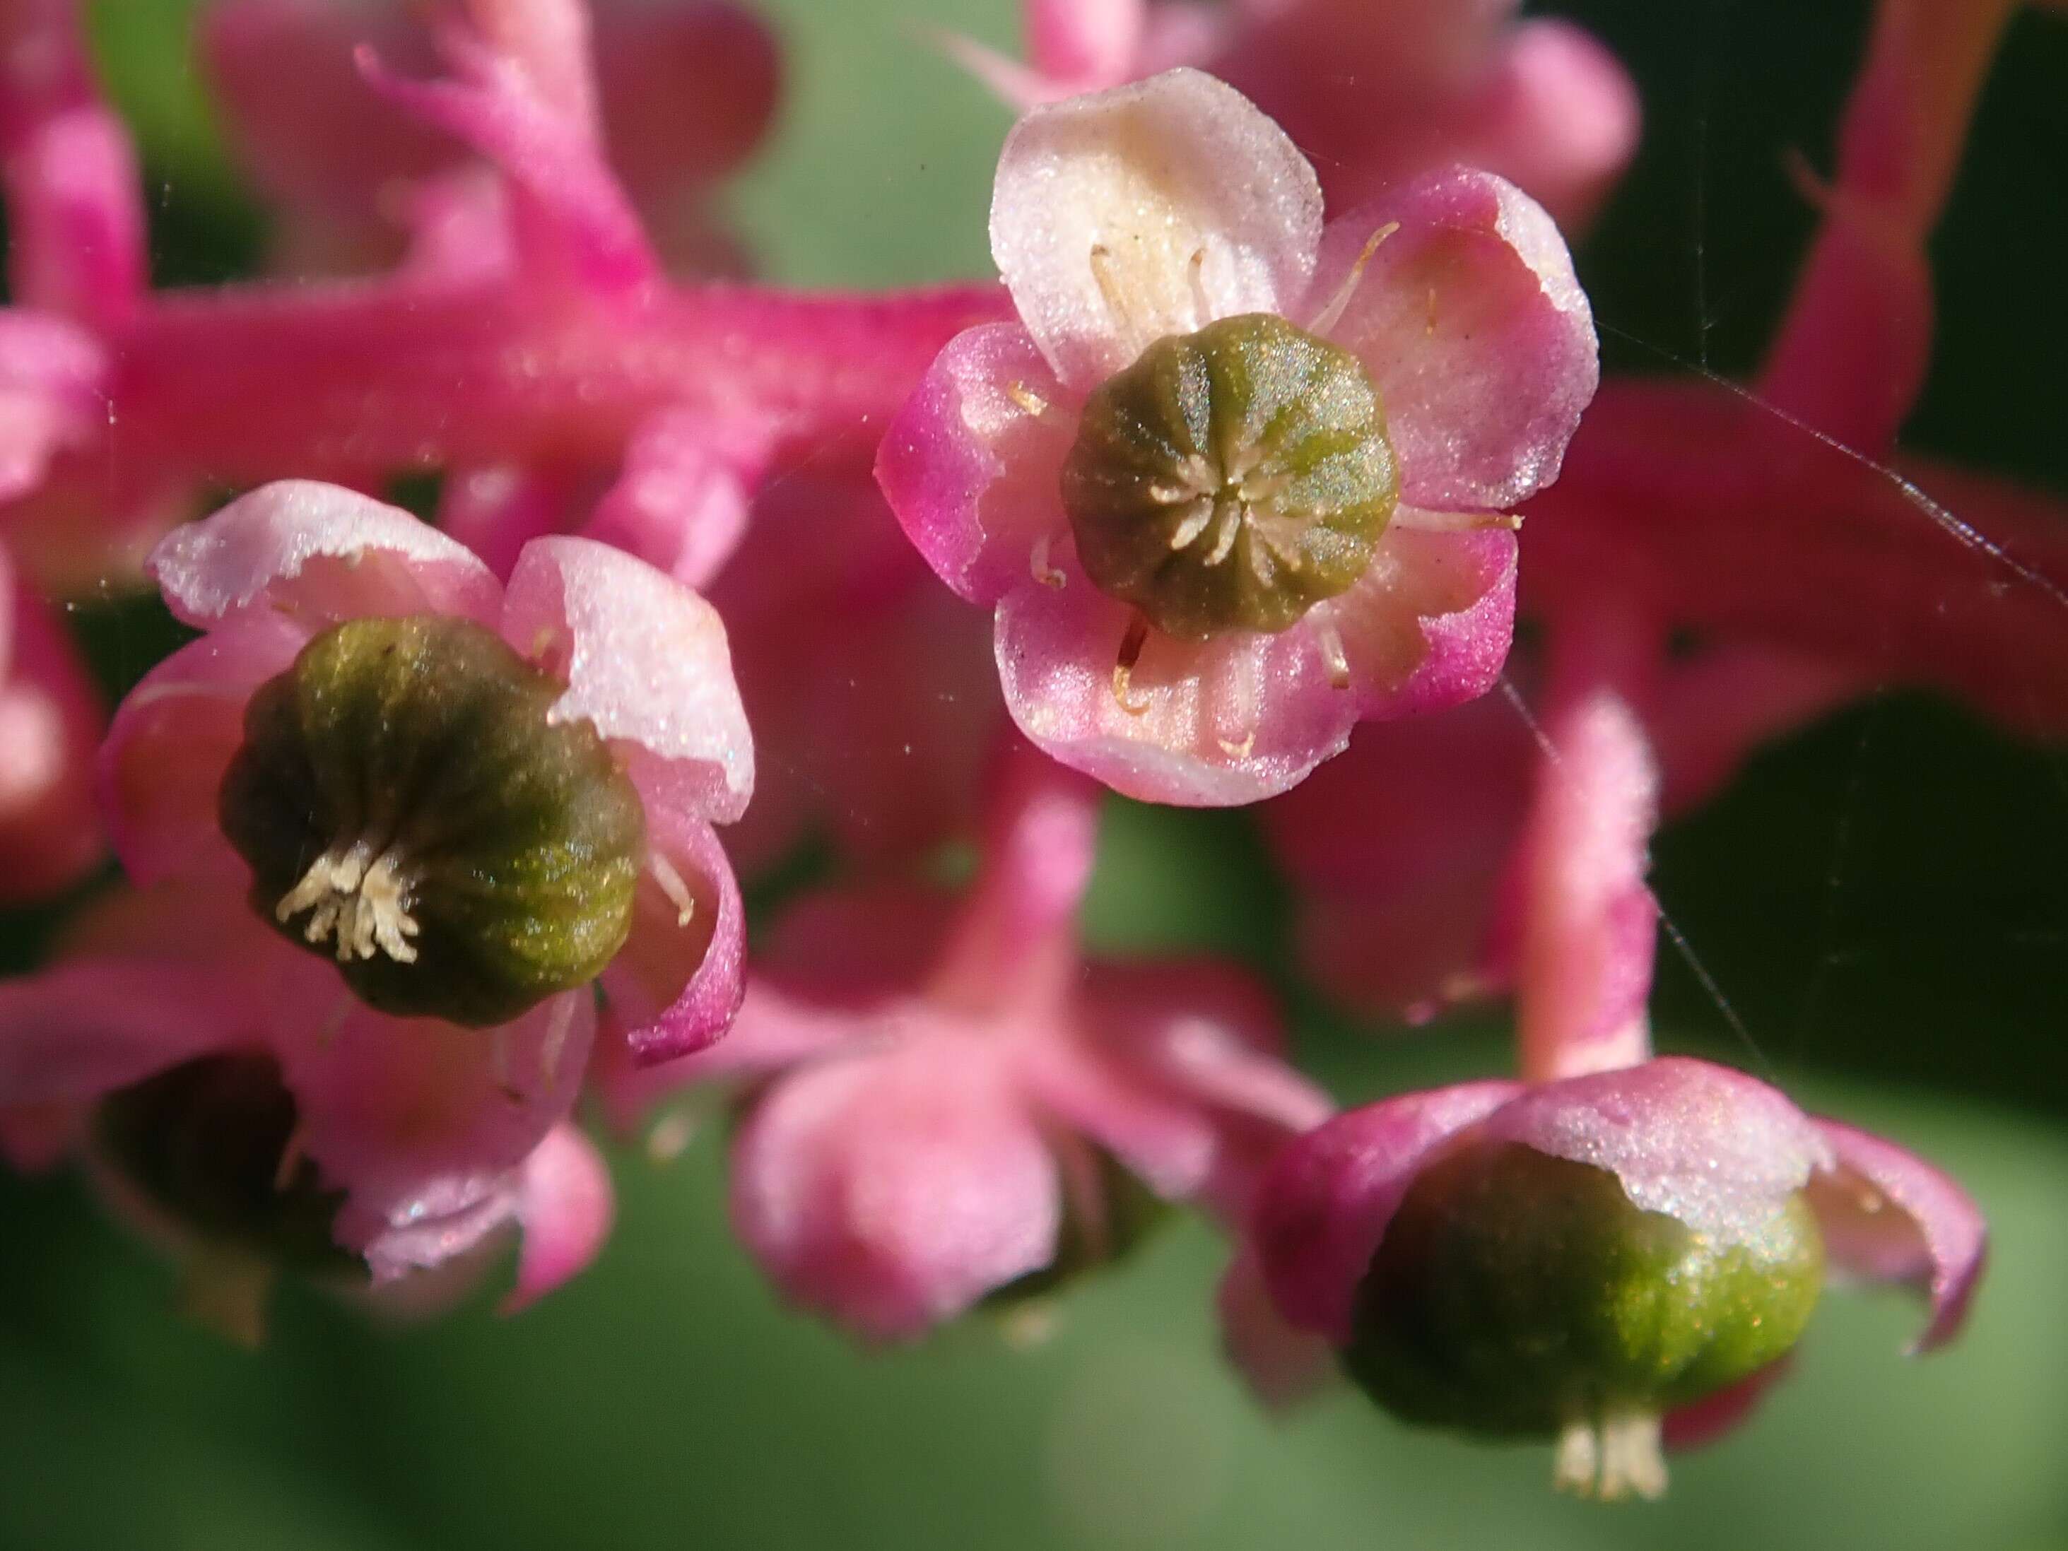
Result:
{"label": "blurred pink flower behind the upright stalk at top left", "polygon": [[[552,62],[542,83],[550,95],[600,118],[610,163],[676,267],[738,269],[707,196],[761,143],[776,110],[780,60],[757,17],[724,0],[602,4],[594,25],[575,6],[538,0],[469,10],[494,45]],[[397,114],[354,64],[354,50],[368,45],[387,66],[430,72],[432,29],[403,6],[219,0],[199,39],[252,178],[285,215],[283,267],[385,267],[401,252],[412,190],[463,182],[465,147]]]}

